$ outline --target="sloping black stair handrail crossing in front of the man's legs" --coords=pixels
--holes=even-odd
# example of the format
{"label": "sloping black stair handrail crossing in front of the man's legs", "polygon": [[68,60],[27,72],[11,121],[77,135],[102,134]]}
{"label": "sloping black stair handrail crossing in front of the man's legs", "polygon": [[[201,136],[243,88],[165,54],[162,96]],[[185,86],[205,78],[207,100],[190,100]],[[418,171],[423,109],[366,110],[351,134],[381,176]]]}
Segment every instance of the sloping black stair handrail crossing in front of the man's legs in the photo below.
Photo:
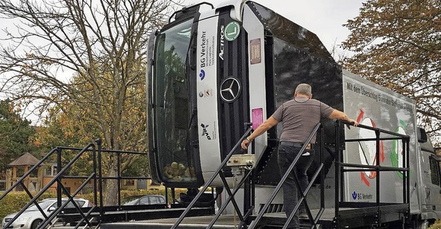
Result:
{"label": "sloping black stair handrail crossing in front of the man's legs", "polygon": [[[314,127],[314,130],[309,134],[307,140],[305,141],[305,144],[303,144],[303,146],[300,149],[298,155],[294,158],[294,161],[291,163],[291,165],[287,169],[286,173],[280,179],[280,182],[277,184],[276,188],[274,188],[274,190],[271,193],[271,195],[269,195],[269,198],[267,199],[267,202],[265,203],[263,208],[260,209],[260,212],[258,213],[256,219],[254,219],[254,221],[249,225],[249,229],[256,228],[256,226],[258,225],[258,222],[260,221],[260,219],[262,219],[263,215],[265,214],[265,212],[269,208],[269,204],[271,204],[271,202],[274,200],[274,198],[276,197],[278,191],[280,190],[280,188],[282,188],[282,185],[285,182],[285,180],[287,179],[289,173],[291,173],[291,171],[293,170],[294,166],[296,166],[298,160],[300,159],[300,156],[302,155],[303,151],[305,151],[305,149],[307,147],[307,143],[311,141],[311,139],[314,137],[314,135],[317,133],[317,131],[318,131],[318,129],[320,127],[322,127],[322,124],[319,122],[318,124],[316,124],[316,127]],[[322,134],[322,131],[320,131],[320,135],[321,134]],[[320,136],[320,144],[321,144],[320,145],[320,157],[322,156],[322,142],[323,142],[322,139],[323,139],[322,136]],[[320,166],[319,166],[318,170],[316,171],[315,177],[317,177],[318,173],[320,173],[322,171],[322,165],[323,165],[323,162],[320,163]],[[283,229],[286,229],[288,227],[288,225],[291,222],[292,218],[296,214],[296,211],[300,207],[300,204],[302,204],[303,199],[305,199],[305,195],[309,191],[309,188],[311,188],[312,183],[314,182],[314,180],[311,180],[311,182],[309,183],[309,186],[306,188],[306,190],[301,191],[301,188],[300,188],[300,185],[299,185],[297,177],[294,180],[296,181],[296,186],[297,186],[296,188],[298,189],[298,191],[300,191],[302,196],[300,197],[299,201],[297,202],[296,206],[294,207],[294,210],[291,212],[291,215],[289,215],[287,221],[285,222],[285,225],[283,226]],[[322,185],[322,187],[323,187],[323,185]],[[323,191],[324,188],[321,188],[321,190]],[[323,200],[320,198],[320,201],[323,201]],[[306,203],[306,201],[305,201],[305,203]],[[320,204],[320,207],[321,206],[322,206],[322,204]],[[305,208],[307,209],[308,217],[311,217],[311,212],[309,211],[309,208],[308,208],[307,204],[305,204]],[[321,212],[323,212],[322,209],[320,209],[319,215],[316,217],[316,219],[314,219],[314,222],[313,222],[313,226],[314,227],[316,227],[316,222],[320,218]]]}

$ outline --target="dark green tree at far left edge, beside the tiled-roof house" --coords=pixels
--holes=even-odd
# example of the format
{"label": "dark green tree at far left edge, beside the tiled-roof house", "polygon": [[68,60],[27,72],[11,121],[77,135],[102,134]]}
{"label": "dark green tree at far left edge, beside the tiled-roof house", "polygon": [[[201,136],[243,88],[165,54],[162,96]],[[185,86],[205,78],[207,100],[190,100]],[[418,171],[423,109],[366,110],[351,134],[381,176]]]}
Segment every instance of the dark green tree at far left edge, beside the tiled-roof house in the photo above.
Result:
{"label": "dark green tree at far left edge, beside the tiled-roof house", "polygon": [[30,124],[29,120],[20,117],[13,102],[0,101],[0,171],[23,153],[36,155],[31,141],[35,130]]}

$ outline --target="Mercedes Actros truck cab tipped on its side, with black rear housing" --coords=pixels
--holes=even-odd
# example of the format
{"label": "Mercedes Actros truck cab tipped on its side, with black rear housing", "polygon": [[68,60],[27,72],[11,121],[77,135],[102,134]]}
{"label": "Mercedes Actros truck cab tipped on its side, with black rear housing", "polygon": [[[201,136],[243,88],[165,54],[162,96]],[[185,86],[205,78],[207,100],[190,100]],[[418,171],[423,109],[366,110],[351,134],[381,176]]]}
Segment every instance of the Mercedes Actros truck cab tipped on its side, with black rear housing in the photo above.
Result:
{"label": "Mercedes Actros truck cab tipped on its side, with black rear housing", "polygon": [[[311,84],[315,98],[343,109],[341,68],[318,37],[257,3],[186,8],[153,39],[149,140],[161,182],[201,186],[247,123],[262,123],[294,96],[298,83]],[[325,126],[334,129],[331,122]],[[256,157],[275,147],[278,133],[256,139]],[[170,175],[167,166],[187,173]]]}

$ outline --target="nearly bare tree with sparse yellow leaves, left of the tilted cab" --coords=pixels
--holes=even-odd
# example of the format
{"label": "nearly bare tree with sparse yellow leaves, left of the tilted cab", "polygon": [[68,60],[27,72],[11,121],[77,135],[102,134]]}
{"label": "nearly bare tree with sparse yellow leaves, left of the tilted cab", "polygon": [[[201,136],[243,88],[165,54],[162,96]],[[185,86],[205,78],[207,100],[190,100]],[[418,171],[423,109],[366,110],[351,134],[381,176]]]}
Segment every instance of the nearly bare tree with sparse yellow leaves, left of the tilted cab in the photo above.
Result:
{"label": "nearly bare tree with sparse yellow leaves, left of the tilted cab", "polygon": [[[3,0],[8,23],[0,50],[0,92],[42,116],[52,105],[83,107],[103,134],[107,149],[145,151],[125,113],[145,104],[148,35],[173,10],[167,0]],[[72,77],[74,76],[74,77]],[[134,98],[138,99],[135,100]],[[129,102],[130,101],[130,102]],[[61,106],[62,107],[62,106]],[[91,137],[93,138],[93,137]],[[136,138],[136,139],[134,139]],[[130,141],[130,144],[127,144]],[[116,175],[116,157],[105,158]],[[107,182],[105,204],[116,204],[116,184]]]}

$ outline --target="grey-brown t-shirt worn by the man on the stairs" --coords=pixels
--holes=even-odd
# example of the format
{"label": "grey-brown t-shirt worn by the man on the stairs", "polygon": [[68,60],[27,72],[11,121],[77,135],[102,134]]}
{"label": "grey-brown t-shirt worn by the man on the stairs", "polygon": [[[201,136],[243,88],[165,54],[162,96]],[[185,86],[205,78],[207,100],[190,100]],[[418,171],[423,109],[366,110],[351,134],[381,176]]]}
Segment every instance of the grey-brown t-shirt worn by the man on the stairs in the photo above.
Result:
{"label": "grey-brown t-shirt worn by the man on the stairs", "polygon": [[[272,116],[283,122],[280,141],[304,143],[320,122],[320,116],[327,118],[332,111],[334,108],[319,100],[300,97],[283,103]],[[311,139],[311,143],[315,142],[316,135]]]}

